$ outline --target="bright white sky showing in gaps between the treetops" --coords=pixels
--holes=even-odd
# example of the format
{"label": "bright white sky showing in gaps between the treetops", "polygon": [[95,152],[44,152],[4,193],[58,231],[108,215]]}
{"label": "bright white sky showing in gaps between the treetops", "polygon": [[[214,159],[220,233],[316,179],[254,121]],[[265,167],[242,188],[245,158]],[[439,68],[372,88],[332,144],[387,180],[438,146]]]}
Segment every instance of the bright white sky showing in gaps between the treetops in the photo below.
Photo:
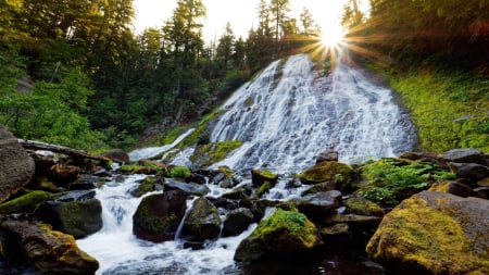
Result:
{"label": "bright white sky showing in gaps between the treetops", "polygon": [[[339,25],[342,7],[348,0],[289,0],[290,15],[299,20],[302,8],[311,12],[323,30]],[[176,7],[177,0],[134,0],[136,9],[136,33],[147,27],[161,27]],[[229,22],[235,36],[248,37],[252,26],[256,26],[260,0],[202,0],[208,16],[204,23],[204,39],[218,39]],[[254,23],[254,25],[253,25]]]}

